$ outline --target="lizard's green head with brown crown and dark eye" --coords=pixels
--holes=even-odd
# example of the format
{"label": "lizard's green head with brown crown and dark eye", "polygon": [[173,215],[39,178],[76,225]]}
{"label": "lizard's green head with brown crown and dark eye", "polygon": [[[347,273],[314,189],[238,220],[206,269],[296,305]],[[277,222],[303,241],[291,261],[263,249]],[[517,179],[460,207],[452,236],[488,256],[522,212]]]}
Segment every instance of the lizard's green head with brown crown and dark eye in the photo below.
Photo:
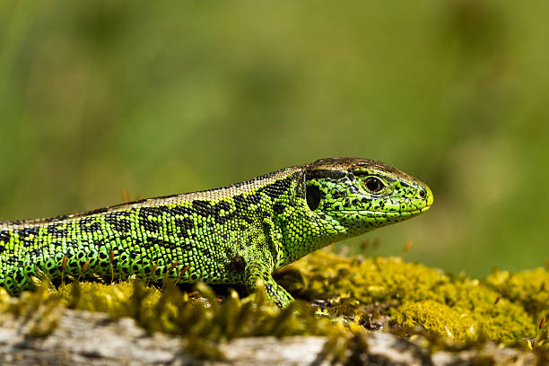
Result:
{"label": "lizard's green head with brown crown and dark eye", "polygon": [[327,232],[358,235],[427,211],[431,189],[380,161],[331,158],[309,164],[307,205]]}

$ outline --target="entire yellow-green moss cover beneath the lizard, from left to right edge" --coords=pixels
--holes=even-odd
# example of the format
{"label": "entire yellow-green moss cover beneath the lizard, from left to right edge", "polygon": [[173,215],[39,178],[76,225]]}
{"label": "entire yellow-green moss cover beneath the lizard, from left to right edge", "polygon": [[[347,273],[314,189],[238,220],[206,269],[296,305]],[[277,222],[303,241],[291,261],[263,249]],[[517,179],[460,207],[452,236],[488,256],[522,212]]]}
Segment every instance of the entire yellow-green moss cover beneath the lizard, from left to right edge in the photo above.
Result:
{"label": "entire yellow-green moss cover beneath the lizard, from left to right edge", "polygon": [[[135,318],[150,332],[181,336],[188,349],[210,358],[222,356],[216,344],[254,335],[329,335],[332,352],[344,354],[345,344],[364,331],[358,324],[384,318],[389,331],[413,335],[426,329],[442,344],[526,344],[528,338],[536,339],[531,343],[536,352],[543,357],[549,353],[548,327],[538,329],[549,302],[549,274],[543,269],[495,271],[479,281],[400,258],[346,258],[318,251],[283,268],[276,278],[298,299],[287,309],[266,301],[261,289],[243,300],[230,291],[220,303],[205,284],[196,286],[199,296],[189,296],[170,283],[161,291],[130,280],[109,285],[74,282],[57,290],[45,282],[19,298],[0,289],[0,314],[30,319],[26,324],[34,335],[55,328],[63,307]],[[344,327],[341,321],[318,317],[299,299],[315,301],[328,314],[354,322]]]}

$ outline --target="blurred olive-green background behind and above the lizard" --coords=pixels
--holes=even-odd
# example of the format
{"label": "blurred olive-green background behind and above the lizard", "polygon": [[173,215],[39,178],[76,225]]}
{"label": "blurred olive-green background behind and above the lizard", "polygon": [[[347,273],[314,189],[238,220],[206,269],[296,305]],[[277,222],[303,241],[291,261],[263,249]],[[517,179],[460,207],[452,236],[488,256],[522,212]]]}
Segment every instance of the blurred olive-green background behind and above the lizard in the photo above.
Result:
{"label": "blurred olive-green background behind and above the lizard", "polygon": [[[331,156],[429,183],[365,238],[454,273],[549,257],[549,3],[0,2],[0,220]],[[349,240],[353,252],[364,238]]]}

